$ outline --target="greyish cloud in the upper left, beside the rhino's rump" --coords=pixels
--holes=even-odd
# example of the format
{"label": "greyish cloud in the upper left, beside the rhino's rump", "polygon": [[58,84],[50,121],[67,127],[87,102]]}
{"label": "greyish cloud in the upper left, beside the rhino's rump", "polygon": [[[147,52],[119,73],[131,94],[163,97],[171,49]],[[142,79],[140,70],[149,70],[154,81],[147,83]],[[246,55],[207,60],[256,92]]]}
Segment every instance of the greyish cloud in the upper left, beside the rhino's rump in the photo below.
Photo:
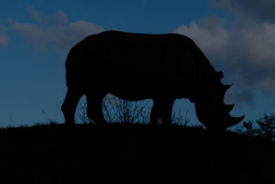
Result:
{"label": "greyish cloud in the upper left, beside the rhino's rump", "polygon": [[12,21],[12,27],[25,39],[44,49],[54,46],[67,51],[89,34],[104,30],[99,25],[82,20],[69,23],[62,10],[45,16],[30,6],[28,12],[35,23]]}

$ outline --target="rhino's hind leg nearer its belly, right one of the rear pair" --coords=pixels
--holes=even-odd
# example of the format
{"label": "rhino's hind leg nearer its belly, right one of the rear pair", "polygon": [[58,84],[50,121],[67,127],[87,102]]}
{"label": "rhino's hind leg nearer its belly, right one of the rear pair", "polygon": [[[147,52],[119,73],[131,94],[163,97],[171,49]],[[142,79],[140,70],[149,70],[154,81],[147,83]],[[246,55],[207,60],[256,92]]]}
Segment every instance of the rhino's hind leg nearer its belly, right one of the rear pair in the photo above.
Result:
{"label": "rhino's hind leg nearer its belly, right one of the rear pair", "polygon": [[102,99],[107,93],[89,93],[87,97],[87,116],[96,124],[104,124],[107,121],[104,119],[102,112]]}

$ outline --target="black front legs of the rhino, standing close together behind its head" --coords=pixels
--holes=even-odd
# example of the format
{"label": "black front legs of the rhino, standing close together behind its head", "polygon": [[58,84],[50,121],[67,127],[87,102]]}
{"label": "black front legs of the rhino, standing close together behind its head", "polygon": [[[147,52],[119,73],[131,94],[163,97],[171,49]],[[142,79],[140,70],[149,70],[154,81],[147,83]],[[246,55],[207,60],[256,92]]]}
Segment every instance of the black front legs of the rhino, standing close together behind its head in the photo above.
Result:
{"label": "black front legs of the rhino, standing close together behind its head", "polygon": [[157,125],[159,119],[164,125],[170,125],[175,99],[153,99],[154,104],[150,114],[150,125]]}

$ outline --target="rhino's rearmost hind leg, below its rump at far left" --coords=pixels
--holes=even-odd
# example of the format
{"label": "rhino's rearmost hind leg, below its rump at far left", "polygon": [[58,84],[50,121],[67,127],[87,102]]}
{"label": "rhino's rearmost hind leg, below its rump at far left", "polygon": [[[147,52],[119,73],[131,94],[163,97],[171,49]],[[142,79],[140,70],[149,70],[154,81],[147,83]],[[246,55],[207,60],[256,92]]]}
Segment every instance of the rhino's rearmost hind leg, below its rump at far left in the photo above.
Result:
{"label": "rhino's rearmost hind leg, below its rump at far left", "polygon": [[78,105],[81,96],[83,96],[83,94],[76,90],[67,90],[65,100],[61,106],[66,125],[74,125],[74,114],[76,113],[76,106]]}

